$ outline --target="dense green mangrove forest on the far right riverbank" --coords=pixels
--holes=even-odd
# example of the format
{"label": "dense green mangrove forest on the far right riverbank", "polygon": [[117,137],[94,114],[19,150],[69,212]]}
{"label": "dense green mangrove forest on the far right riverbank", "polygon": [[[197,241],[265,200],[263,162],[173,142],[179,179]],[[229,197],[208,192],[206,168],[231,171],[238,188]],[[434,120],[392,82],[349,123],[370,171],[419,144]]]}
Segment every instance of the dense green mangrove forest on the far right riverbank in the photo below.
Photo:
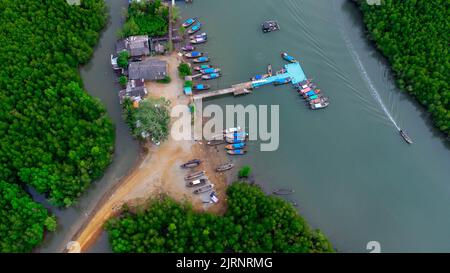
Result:
{"label": "dense green mangrove forest on the far right riverbank", "polygon": [[397,85],[450,135],[450,1],[359,1],[370,37],[388,57]]}

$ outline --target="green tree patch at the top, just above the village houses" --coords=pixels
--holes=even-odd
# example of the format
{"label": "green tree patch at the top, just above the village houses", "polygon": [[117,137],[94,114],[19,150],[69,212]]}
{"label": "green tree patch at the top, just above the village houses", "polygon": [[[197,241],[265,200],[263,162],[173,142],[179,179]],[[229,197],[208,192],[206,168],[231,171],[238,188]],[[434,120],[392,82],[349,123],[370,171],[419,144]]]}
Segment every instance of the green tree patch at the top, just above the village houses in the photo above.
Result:
{"label": "green tree patch at the top, just above the village houses", "polygon": [[164,36],[168,32],[169,9],[160,0],[132,2],[120,36]]}

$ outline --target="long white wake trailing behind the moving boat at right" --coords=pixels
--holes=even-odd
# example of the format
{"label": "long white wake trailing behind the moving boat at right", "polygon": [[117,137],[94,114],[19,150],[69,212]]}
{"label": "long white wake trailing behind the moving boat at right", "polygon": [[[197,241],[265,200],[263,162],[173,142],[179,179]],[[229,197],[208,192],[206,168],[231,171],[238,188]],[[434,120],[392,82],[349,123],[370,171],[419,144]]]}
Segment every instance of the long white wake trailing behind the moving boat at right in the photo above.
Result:
{"label": "long white wake trailing behind the moving boat at right", "polygon": [[[333,1],[333,3],[335,3],[335,1]],[[375,88],[375,86],[373,85],[372,81],[370,80],[369,74],[367,74],[367,71],[364,68],[364,65],[362,64],[361,59],[358,56],[358,53],[356,52],[355,48],[353,47],[353,44],[351,43],[350,39],[348,38],[347,33],[343,29],[342,20],[341,20],[341,27],[339,29],[340,29],[340,31],[342,33],[342,36],[343,36],[344,41],[345,41],[345,45],[347,46],[347,49],[350,52],[350,55],[352,56],[352,58],[355,61],[355,63],[358,65],[359,71],[361,72],[361,75],[363,76],[367,86],[370,89],[370,93],[373,95],[375,100],[380,104],[380,106],[383,109],[384,113],[389,118],[389,120],[392,122],[392,124],[394,124],[395,128],[397,128],[397,130],[400,131],[401,130],[400,127],[397,125],[397,122],[395,122],[395,120],[392,117],[391,113],[389,112],[389,110],[384,105],[383,100],[381,99],[380,94],[378,93],[378,90]]]}

